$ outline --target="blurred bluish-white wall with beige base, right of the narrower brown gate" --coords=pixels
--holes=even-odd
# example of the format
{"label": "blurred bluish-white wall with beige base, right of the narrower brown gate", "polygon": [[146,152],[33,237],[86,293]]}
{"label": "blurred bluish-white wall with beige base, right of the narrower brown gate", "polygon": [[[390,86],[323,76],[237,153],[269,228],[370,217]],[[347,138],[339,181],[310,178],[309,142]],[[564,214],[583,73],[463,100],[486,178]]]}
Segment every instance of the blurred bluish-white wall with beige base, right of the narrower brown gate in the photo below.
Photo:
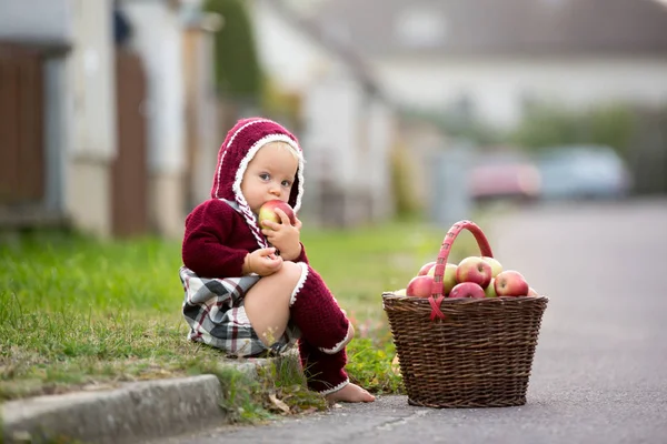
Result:
{"label": "blurred bluish-white wall with beige base, right of the narrower brown gate", "polygon": [[166,1],[122,3],[133,26],[131,48],[143,60],[148,80],[149,218],[158,234],[182,234],[186,212],[185,79],[182,27]]}

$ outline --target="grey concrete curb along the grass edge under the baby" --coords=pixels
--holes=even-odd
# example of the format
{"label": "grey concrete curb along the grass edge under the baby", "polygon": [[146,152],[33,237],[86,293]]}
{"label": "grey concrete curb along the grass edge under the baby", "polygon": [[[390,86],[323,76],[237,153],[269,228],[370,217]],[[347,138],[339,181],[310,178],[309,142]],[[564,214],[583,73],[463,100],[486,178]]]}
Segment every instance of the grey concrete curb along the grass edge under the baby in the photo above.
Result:
{"label": "grey concrete curb along the grass edge under the baby", "polygon": [[[258,367],[281,359],[230,360],[223,366],[257,377]],[[111,444],[173,436],[222,425],[226,414],[219,407],[221,397],[218,379],[199,375],[10,401],[2,405],[2,442],[39,443],[63,436]]]}

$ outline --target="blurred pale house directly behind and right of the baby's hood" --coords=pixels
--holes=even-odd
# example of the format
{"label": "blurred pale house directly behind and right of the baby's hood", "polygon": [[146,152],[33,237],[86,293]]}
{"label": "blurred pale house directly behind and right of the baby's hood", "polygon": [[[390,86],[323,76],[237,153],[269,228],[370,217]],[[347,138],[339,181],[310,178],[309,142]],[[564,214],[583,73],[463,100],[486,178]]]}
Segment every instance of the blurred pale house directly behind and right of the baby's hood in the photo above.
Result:
{"label": "blurred pale house directly behind and right of the baby's hood", "polygon": [[251,16],[266,73],[301,98],[305,213],[341,226],[390,216],[394,115],[367,67],[283,2],[255,0]]}

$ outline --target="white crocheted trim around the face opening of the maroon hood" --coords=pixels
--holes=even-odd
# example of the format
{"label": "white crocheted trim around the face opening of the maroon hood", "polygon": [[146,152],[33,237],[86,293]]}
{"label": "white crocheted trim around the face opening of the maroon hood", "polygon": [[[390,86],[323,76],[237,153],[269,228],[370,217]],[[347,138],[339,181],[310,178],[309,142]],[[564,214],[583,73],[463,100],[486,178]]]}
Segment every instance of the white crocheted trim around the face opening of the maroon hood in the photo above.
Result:
{"label": "white crocheted trim around the face opening of the maroon hood", "polygon": [[[266,122],[270,122],[270,121],[266,121]],[[236,135],[236,133],[235,133],[235,135]],[[246,154],[246,157],[243,159],[241,159],[241,163],[239,164],[239,168],[235,174],[233,184],[231,185],[231,191],[233,192],[236,201],[238,202],[239,208],[241,210],[241,213],[243,214],[243,218],[246,219],[246,223],[250,228],[250,231],[252,231],[252,234],[255,235],[257,243],[262,249],[269,246],[269,244],[267,243],[266,239],[261,234],[261,231],[259,230],[259,225],[257,223],[257,218],[252,213],[252,210],[250,210],[250,206],[248,206],[248,202],[246,201],[246,198],[243,196],[243,193],[241,192],[241,181],[243,180],[243,174],[246,173],[246,170],[248,169],[248,164],[250,163],[252,158],[255,158],[255,154],[257,154],[257,152],[263,145],[266,145],[267,143],[271,143],[271,142],[287,143],[295,150],[295,152],[297,153],[297,157],[299,158],[299,168],[297,170],[297,175],[299,178],[299,192],[297,193],[297,204],[295,205],[295,209],[293,209],[295,212],[298,211],[298,208],[300,206],[300,203],[301,203],[300,194],[301,194],[302,183],[303,183],[303,155],[302,155],[301,151],[299,150],[299,145],[297,145],[297,143],[287,134],[269,134],[267,137],[259,139],[257,142],[255,142],[255,144],[252,147],[250,147],[250,150],[248,150],[248,153]]]}

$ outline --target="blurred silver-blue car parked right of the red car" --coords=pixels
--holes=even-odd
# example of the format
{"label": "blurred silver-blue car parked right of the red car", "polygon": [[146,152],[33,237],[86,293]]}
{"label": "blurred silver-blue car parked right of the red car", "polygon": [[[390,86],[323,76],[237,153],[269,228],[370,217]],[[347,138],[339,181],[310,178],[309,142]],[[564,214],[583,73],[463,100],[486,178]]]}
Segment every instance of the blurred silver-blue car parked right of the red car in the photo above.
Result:
{"label": "blurred silver-blue car parked right of the red car", "polygon": [[621,199],[630,192],[629,171],[604,145],[556,147],[537,160],[545,200]]}

